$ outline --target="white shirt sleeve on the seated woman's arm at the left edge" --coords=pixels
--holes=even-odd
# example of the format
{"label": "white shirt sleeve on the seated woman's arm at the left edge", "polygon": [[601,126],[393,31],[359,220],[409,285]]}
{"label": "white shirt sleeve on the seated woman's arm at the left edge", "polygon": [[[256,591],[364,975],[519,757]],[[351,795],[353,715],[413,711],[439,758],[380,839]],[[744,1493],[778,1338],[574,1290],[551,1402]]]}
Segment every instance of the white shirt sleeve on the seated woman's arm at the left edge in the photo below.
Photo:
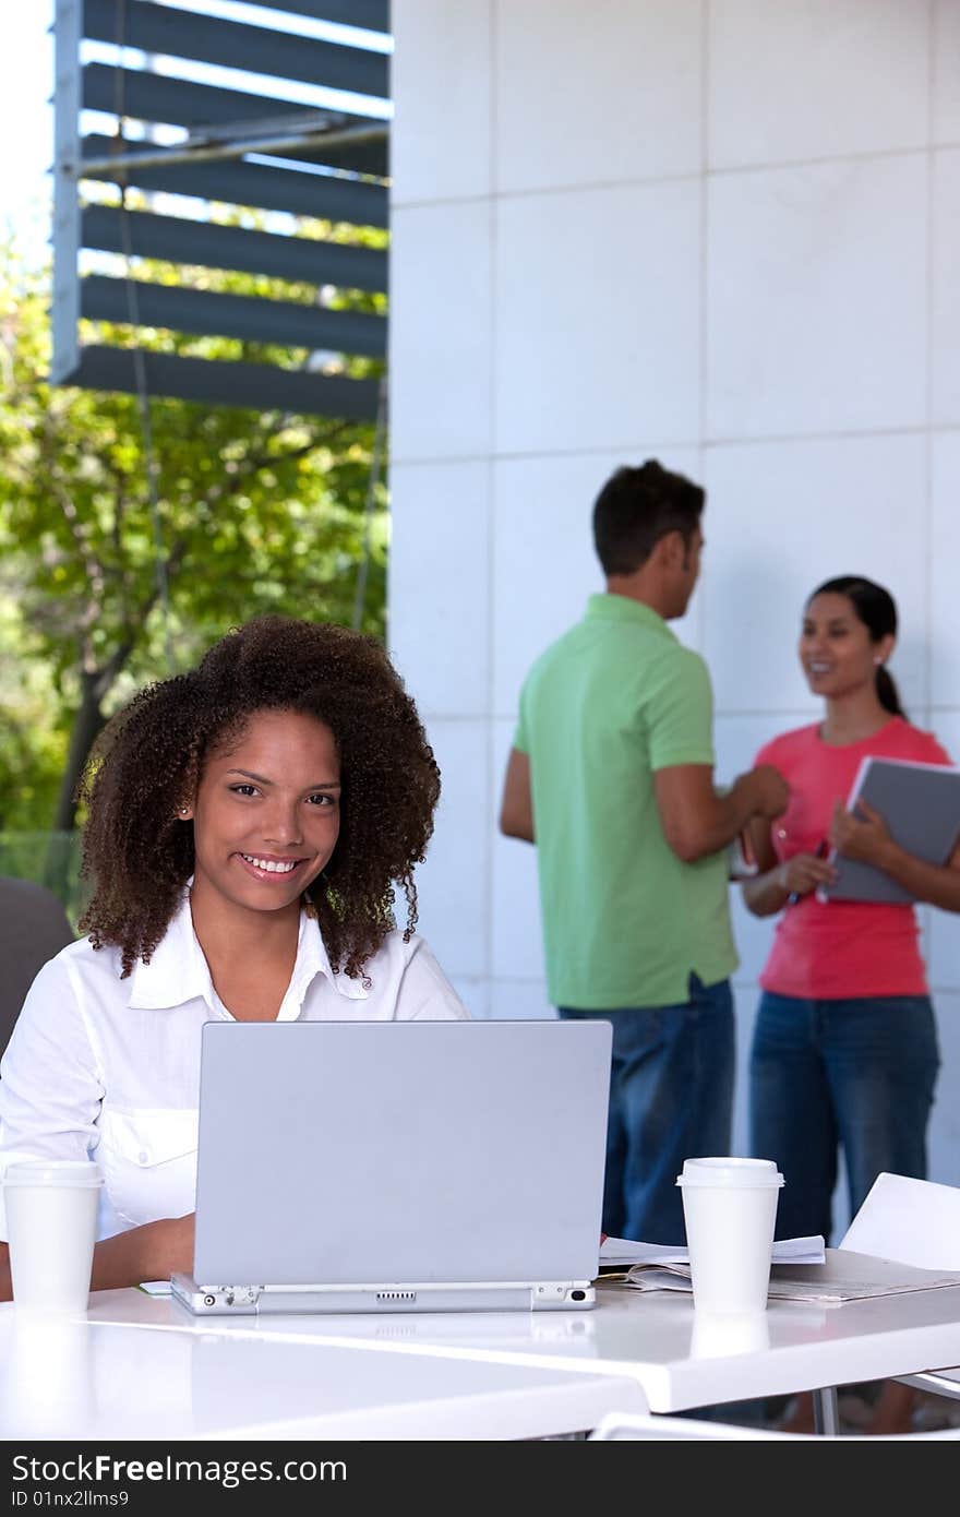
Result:
{"label": "white shirt sleeve on the seated woman's arm at the left edge", "polygon": [[[0,1060],[0,1182],[21,1159],[89,1159],[102,1101],[73,977],[58,954],[33,980]],[[0,1239],[6,1239],[2,1183]]]}

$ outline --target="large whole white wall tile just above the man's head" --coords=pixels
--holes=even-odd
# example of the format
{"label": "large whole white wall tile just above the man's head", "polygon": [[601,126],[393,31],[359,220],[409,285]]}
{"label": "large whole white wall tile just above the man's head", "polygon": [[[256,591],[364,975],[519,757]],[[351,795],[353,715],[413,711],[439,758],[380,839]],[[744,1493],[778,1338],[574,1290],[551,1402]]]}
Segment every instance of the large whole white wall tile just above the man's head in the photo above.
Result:
{"label": "large whole white wall tile just above the man's head", "polygon": [[499,202],[497,454],[696,437],[699,217],[693,179]]}

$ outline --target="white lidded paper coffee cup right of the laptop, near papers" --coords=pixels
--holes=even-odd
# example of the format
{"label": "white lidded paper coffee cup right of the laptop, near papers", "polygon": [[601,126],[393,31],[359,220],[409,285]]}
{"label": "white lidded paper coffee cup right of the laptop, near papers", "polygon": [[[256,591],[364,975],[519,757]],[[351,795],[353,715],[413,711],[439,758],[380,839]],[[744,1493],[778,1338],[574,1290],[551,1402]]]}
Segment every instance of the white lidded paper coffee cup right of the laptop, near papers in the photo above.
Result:
{"label": "white lidded paper coffee cup right of the laptop, near papers", "polygon": [[772,1159],[685,1159],[684,1203],[693,1305],[716,1317],[766,1311],[776,1201]]}

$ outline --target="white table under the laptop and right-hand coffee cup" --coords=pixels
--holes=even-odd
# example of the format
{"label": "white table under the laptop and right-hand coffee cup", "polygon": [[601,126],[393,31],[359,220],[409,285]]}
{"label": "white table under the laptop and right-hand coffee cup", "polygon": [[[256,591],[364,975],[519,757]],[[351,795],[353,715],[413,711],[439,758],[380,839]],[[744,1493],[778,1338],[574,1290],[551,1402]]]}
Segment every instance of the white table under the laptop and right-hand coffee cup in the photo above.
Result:
{"label": "white table under the laptop and right-hand coffee cup", "polygon": [[[93,1297],[94,1323],[150,1321],[182,1332],[190,1315],[140,1291]],[[211,1326],[215,1321],[215,1329]],[[582,1376],[617,1377],[620,1411],[676,1412],[960,1364],[960,1286],[820,1306],[770,1302],[760,1329],[696,1323],[679,1291],[601,1285],[584,1312],[420,1312],[208,1318],[218,1335],[376,1350]],[[413,1373],[413,1371],[411,1371]],[[587,1426],[584,1423],[584,1426]],[[560,1431],[560,1429],[557,1429]]]}

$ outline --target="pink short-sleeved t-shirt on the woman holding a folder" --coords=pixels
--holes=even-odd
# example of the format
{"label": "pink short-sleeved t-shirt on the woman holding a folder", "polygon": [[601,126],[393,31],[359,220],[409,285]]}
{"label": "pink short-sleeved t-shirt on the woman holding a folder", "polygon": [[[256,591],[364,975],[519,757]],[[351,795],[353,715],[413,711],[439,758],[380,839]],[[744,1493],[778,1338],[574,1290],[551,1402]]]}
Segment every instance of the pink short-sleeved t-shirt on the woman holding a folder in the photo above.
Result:
{"label": "pink short-sleeved t-shirt on the woman holding a folder", "polygon": [[[893,716],[872,737],[834,748],[819,725],[799,727],[766,743],[755,763],[772,763],[790,786],[790,804],[770,824],[780,860],[816,853],[828,836],[834,801],[846,801],[860,760],[916,758],[949,763],[931,733]],[[925,995],[927,974],[911,906],[819,901],[804,895],[780,915],[760,983],[778,995],[846,1000],[858,995]]]}

